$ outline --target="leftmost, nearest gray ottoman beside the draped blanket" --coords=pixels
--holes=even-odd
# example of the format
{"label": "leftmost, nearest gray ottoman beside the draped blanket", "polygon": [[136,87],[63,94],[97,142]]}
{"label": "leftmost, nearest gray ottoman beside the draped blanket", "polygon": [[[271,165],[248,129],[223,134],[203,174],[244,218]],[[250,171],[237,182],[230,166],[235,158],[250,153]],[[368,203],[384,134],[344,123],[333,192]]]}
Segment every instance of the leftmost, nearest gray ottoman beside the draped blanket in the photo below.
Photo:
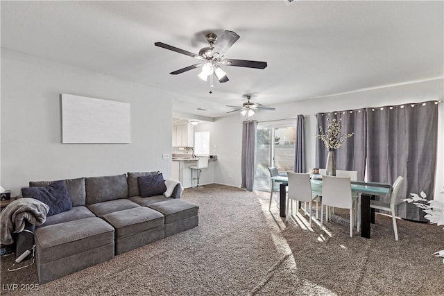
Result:
{"label": "leftmost, nearest gray ottoman beside the draped blanket", "polygon": [[114,228],[97,217],[37,228],[34,239],[40,284],[114,258]]}

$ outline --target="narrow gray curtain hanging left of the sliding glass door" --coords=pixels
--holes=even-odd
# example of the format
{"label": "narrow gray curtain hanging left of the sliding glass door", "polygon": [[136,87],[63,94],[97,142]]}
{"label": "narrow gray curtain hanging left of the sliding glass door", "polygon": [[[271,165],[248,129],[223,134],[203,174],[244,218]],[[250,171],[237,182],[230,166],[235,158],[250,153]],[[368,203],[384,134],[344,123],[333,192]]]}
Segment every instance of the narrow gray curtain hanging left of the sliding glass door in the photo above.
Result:
{"label": "narrow gray curtain hanging left of the sliding glass door", "polygon": [[257,121],[244,121],[242,125],[242,184],[241,188],[255,189],[255,154]]}

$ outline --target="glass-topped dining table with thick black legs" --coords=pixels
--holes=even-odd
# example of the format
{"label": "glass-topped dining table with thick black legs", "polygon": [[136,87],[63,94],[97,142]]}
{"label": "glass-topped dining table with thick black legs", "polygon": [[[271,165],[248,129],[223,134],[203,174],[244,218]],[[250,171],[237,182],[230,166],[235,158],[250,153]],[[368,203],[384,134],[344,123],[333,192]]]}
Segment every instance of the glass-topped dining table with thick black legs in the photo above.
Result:
{"label": "glass-topped dining table with thick black legs", "polygon": [[[288,177],[279,175],[271,179],[280,183],[280,216],[285,217]],[[351,184],[352,192],[361,193],[361,236],[370,238],[370,223],[375,223],[375,209],[370,209],[370,200],[375,199],[375,195],[389,195],[393,188],[391,184],[378,182],[351,181]],[[316,179],[311,177],[311,191],[318,195],[322,194],[322,177]]]}

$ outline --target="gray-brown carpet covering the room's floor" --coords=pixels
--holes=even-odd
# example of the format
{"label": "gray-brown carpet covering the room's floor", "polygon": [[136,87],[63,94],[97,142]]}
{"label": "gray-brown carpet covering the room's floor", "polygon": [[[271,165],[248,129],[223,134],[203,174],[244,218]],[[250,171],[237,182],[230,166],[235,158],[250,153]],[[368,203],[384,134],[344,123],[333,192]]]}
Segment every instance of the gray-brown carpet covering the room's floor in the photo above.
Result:
{"label": "gray-brown carpet covering the room's floor", "polygon": [[[39,286],[31,295],[444,295],[443,227],[376,216],[372,238],[348,236],[348,211],[327,233],[307,217],[286,223],[269,193],[230,186],[186,189],[200,225]],[[276,196],[277,198],[277,196]],[[330,234],[330,235],[329,235]],[[35,265],[8,272],[6,284],[36,284]],[[19,286],[20,287],[20,286]],[[23,292],[22,292],[23,293]]]}

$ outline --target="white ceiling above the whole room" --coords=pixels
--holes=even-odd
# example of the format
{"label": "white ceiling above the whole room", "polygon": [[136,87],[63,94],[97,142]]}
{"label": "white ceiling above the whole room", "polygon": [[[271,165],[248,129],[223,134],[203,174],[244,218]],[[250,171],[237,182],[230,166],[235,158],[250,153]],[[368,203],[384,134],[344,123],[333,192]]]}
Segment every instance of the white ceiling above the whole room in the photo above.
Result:
{"label": "white ceiling above the whole room", "polygon": [[[243,94],[265,106],[443,76],[443,1],[1,1],[1,47],[176,93],[178,112],[224,116]],[[196,60],[205,33],[240,39],[210,85]],[[158,99],[158,98],[155,98]],[[196,107],[207,109],[197,111]]]}

